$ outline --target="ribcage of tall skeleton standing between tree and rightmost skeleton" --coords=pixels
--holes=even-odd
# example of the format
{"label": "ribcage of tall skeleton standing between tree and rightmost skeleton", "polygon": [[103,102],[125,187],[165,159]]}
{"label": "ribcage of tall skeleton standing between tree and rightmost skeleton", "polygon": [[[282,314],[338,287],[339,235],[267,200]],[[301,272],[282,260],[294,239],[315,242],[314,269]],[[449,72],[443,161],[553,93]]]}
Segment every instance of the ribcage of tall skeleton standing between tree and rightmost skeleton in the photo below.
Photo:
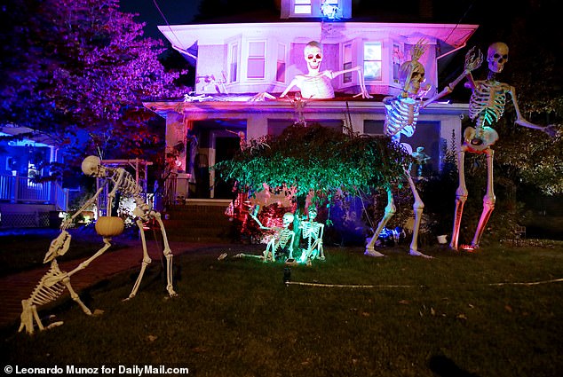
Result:
{"label": "ribcage of tall skeleton standing between tree and rightmost skeleton", "polygon": [[394,137],[402,134],[411,137],[416,131],[419,103],[413,98],[385,100],[385,135]]}

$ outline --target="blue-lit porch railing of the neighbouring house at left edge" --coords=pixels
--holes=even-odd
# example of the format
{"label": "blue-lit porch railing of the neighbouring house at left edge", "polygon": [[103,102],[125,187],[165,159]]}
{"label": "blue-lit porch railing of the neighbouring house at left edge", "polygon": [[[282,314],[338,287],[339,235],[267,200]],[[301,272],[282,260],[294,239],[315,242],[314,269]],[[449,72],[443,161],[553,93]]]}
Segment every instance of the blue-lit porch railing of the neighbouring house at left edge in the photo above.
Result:
{"label": "blue-lit porch railing of the neighbouring house at left edge", "polygon": [[53,204],[60,211],[68,209],[68,189],[56,182],[36,183],[28,177],[0,174],[0,200],[12,203]]}

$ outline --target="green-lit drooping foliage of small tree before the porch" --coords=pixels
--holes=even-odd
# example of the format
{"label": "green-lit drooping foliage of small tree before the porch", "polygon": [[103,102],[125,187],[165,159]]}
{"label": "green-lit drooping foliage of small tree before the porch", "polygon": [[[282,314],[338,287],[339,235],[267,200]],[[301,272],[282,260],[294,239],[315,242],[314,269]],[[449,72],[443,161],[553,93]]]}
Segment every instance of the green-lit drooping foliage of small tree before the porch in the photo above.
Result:
{"label": "green-lit drooping foliage of small tree before the porch", "polygon": [[234,180],[250,193],[263,184],[292,189],[297,198],[310,192],[374,192],[404,175],[410,157],[389,137],[342,133],[321,125],[290,126],[264,144],[250,143],[231,161],[215,165],[219,177]]}

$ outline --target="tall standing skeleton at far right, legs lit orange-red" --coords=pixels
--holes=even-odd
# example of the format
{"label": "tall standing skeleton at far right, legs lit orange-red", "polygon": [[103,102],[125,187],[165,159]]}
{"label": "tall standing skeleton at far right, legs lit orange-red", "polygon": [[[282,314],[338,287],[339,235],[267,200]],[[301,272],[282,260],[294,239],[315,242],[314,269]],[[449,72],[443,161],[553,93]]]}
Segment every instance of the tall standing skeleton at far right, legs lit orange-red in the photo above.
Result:
{"label": "tall standing skeleton at far right, legs lit orange-red", "polygon": [[[510,94],[514,110],[516,111],[516,124],[530,129],[543,130],[548,135],[554,133],[553,126],[542,127],[527,122],[519,111],[514,87],[509,84],[498,82],[496,74],[504,69],[504,64],[508,61],[508,46],[505,43],[492,43],[488,47],[488,77],[487,80],[474,81],[471,72],[466,72],[467,82],[465,86],[472,90],[472,97],[469,102],[469,116],[474,121],[475,128],[468,127],[464,130],[464,143],[458,153],[459,186],[456,190],[456,213],[454,218],[454,229],[449,246],[457,250],[459,238],[459,227],[461,224],[464,203],[467,200],[467,188],[464,177],[464,154],[479,153],[485,154],[487,158],[487,192],[483,197],[483,212],[481,213],[477,230],[472,240],[472,244],[464,246],[464,249],[472,250],[479,247],[481,236],[488,223],[488,219],[495,208],[495,193],[493,191],[493,156],[492,145],[498,140],[498,134],[491,126],[497,122],[504,114],[506,105],[506,95]],[[451,86],[451,84],[450,84]],[[445,89],[445,91],[448,91]]]}

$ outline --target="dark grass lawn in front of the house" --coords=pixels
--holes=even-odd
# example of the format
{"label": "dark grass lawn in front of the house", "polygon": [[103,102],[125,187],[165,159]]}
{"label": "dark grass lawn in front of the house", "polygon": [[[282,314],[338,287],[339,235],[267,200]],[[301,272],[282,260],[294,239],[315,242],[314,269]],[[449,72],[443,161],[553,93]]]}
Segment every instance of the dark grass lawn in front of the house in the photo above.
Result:
{"label": "dark grass lawn in front of the house", "polygon": [[[242,248],[242,247],[241,247]],[[229,255],[251,248],[231,247]],[[563,375],[563,243],[487,247],[432,260],[387,247],[327,247],[327,261],[291,267],[217,257],[210,248],[174,259],[178,297],[158,261],[139,294],[138,271],[40,314],[63,326],[1,330],[5,364],[166,365],[195,376],[560,376]],[[363,285],[315,287],[293,283]],[[516,283],[543,282],[526,285]],[[497,283],[506,283],[499,285]],[[66,296],[67,297],[67,296]]]}

